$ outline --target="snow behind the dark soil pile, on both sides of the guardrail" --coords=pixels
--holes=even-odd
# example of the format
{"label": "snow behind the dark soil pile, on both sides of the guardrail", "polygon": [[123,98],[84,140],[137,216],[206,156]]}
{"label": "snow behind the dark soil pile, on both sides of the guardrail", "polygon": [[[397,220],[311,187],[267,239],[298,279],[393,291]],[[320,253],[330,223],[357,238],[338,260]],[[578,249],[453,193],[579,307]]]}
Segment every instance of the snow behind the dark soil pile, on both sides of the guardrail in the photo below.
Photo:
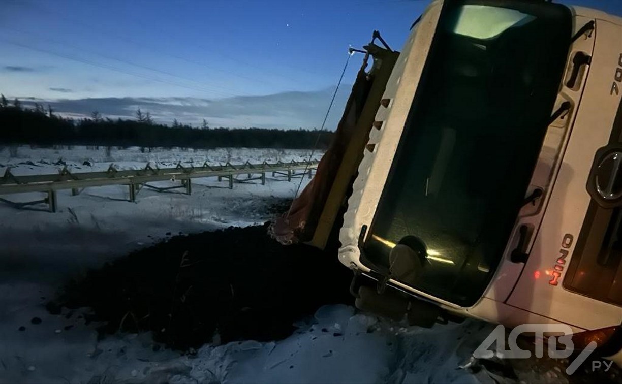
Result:
{"label": "snow behind the dark soil pile, on both sides of the guardrail", "polygon": [[[318,158],[322,153],[315,153]],[[137,147],[112,149],[16,149],[0,150],[0,174],[11,167],[14,175],[57,173],[65,165],[72,172],[106,170],[114,164],[120,170],[141,169],[148,162],[160,168],[208,162],[210,165],[231,162],[290,162],[309,159],[309,150],[212,149],[165,150],[142,153]],[[59,160],[61,160],[59,162]],[[90,165],[83,165],[85,162]],[[240,180],[245,175],[240,175]],[[273,214],[266,206],[291,199],[300,178],[266,175],[266,185],[258,181],[235,183],[217,178],[195,178],[192,194],[183,190],[158,193],[143,188],[136,203],[130,203],[127,186],[112,185],[86,188],[77,196],[70,190],[58,191],[57,213],[47,212],[40,204],[29,209],[15,209],[0,203],[0,277],[15,277],[22,270],[28,275],[32,265],[47,268],[49,278],[65,278],[65,273],[100,265],[111,257],[144,247],[170,235],[210,231],[228,226],[262,224]],[[302,180],[302,188],[308,182]],[[178,182],[179,184],[179,182]],[[172,182],[154,183],[172,186]],[[0,196],[16,202],[35,201],[44,193]],[[71,260],[71,262],[68,262]]]}

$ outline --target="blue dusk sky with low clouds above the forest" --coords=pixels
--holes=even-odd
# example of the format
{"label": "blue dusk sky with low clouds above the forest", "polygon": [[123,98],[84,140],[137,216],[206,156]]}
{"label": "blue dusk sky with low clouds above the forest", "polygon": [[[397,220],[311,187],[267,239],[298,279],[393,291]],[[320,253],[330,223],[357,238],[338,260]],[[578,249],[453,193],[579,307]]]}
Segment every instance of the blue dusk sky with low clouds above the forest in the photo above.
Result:
{"label": "blue dusk sky with low clouds above the forest", "polygon": [[[347,58],[401,49],[429,1],[2,0],[0,92],[57,111],[213,126],[319,127]],[[620,0],[575,0],[622,14]],[[361,56],[351,58],[333,129]]]}

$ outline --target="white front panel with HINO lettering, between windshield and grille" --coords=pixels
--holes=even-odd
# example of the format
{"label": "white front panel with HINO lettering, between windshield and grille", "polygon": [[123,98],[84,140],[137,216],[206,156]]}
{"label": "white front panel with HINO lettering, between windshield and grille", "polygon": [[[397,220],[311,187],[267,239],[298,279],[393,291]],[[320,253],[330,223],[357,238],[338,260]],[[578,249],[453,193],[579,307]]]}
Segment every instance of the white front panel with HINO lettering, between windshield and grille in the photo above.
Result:
{"label": "white front panel with HINO lettering, between windshield and grille", "polygon": [[[585,189],[596,150],[606,145],[620,104],[611,84],[622,53],[620,25],[598,20],[592,65],[559,176],[529,260],[508,304],[584,329],[619,326],[622,308],[549,284],[562,239],[576,239],[590,195]],[[567,264],[574,245],[569,249]],[[534,278],[539,275],[540,278]],[[564,275],[560,278],[560,281]]]}

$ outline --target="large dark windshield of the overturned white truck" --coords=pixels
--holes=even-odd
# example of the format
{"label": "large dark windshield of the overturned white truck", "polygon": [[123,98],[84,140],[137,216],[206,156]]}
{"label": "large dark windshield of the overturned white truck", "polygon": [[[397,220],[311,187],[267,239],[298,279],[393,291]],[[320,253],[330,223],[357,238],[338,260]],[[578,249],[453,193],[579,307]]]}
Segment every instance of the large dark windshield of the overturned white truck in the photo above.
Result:
{"label": "large dark windshield of the overturned white truck", "polygon": [[395,245],[416,238],[422,271],[401,282],[460,306],[481,297],[504,252],[571,35],[559,4],[488,4],[445,4],[362,252],[388,272]]}

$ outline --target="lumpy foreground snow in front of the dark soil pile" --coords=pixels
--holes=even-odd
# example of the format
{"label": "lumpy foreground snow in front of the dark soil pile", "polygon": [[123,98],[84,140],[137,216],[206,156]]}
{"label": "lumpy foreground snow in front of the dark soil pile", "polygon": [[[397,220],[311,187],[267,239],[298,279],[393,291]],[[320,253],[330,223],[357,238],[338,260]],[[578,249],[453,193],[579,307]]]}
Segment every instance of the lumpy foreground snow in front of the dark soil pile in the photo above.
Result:
{"label": "lumpy foreground snow in front of the dark soil pile", "polygon": [[[46,313],[33,299],[40,295],[35,285],[0,290],[2,306],[9,309],[0,322],[0,383],[478,382],[456,369],[455,362],[470,351],[448,342],[473,324],[425,336],[394,331],[391,324],[355,314],[348,306],[325,306],[312,324],[299,324],[299,331],[284,341],[205,345],[180,355],[153,344],[149,333],[98,341],[80,311]],[[40,324],[30,322],[35,316]],[[26,330],[19,331],[18,324]],[[412,349],[420,339],[429,345]],[[420,356],[413,360],[413,353]],[[486,382],[486,375],[481,378]]]}

